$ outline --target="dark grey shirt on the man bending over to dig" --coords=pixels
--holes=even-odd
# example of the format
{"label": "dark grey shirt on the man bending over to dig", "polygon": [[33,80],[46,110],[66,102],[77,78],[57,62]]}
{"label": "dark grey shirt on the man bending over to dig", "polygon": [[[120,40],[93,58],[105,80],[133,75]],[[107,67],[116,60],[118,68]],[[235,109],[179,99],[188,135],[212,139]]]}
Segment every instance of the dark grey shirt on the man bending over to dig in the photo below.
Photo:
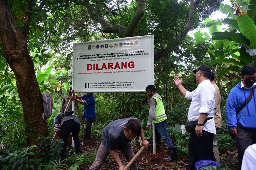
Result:
{"label": "dark grey shirt on the man bending over to dig", "polygon": [[114,120],[104,128],[102,132],[102,143],[106,149],[118,149],[120,146],[131,147],[131,143],[126,139],[123,130],[123,127],[130,119],[133,118]]}

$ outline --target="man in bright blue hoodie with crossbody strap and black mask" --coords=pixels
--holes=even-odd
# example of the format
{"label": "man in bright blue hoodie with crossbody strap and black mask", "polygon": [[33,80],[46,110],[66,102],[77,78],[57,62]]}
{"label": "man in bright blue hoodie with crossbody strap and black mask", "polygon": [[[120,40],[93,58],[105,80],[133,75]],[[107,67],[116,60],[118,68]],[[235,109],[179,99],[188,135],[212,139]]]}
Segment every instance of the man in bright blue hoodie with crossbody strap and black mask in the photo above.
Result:
{"label": "man in bright blue hoodie with crossbody strap and black mask", "polygon": [[[238,149],[239,168],[241,169],[245,149],[256,143],[256,70],[253,66],[244,66],[241,79],[229,93],[226,104],[227,124],[230,134],[236,139]],[[248,96],[253,96],[247,102]],[[243,103],[245,107],[241,110]],[[241,110],[239,112],[239,110]],[[238,113],[239,112],[239,113]]]}

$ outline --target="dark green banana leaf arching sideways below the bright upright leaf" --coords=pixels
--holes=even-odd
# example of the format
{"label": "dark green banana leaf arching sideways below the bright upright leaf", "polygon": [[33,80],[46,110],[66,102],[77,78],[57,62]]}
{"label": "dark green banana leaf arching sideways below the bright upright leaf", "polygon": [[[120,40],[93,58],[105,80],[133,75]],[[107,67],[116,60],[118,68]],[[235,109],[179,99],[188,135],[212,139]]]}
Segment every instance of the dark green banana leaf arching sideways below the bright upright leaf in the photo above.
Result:
{"label": "dark green banana leaf arching sideways below the bright upright leaf", "polygon": [[212,40],[215,40],[215,39],[228,39],[230,41],[235,41],[236,43],[239,43],[239,44],[245,44],[247,46],[250,45],[250,40],[247,39],[243,34],[234,33],[232,31],[214,32],[212,34]]}

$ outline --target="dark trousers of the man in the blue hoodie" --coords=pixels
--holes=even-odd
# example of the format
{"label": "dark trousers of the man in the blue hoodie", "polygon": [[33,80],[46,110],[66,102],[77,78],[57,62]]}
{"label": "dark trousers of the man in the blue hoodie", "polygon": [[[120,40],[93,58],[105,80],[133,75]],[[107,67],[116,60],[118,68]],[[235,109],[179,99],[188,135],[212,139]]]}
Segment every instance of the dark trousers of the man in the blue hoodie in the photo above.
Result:
{"label": "dark trousers of the man in the blue hoodie", "polygon": [[246,129],[237,126],[237,136],[235,139],[237,142],[239,169],[241,169],[245,149],[256,143],[256,129]]}

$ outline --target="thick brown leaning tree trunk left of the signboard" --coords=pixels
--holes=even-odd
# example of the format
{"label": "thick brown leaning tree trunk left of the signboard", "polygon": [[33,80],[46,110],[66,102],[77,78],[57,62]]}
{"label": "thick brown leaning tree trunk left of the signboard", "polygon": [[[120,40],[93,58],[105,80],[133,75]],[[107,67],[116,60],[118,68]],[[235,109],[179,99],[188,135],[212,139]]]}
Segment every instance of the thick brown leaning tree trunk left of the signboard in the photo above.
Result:
{"label": "thick brown leaning tree trunk left of the signboard", "polygon": [[35,76],[34,64],[28,53],[27,38],[19,30],[8,2],[0,0],[0,38],[3,56],[17,80],[17,89],[25,116],[27,145],[36,144],[38,137],[49,135],[42,119],[41,92]]}

